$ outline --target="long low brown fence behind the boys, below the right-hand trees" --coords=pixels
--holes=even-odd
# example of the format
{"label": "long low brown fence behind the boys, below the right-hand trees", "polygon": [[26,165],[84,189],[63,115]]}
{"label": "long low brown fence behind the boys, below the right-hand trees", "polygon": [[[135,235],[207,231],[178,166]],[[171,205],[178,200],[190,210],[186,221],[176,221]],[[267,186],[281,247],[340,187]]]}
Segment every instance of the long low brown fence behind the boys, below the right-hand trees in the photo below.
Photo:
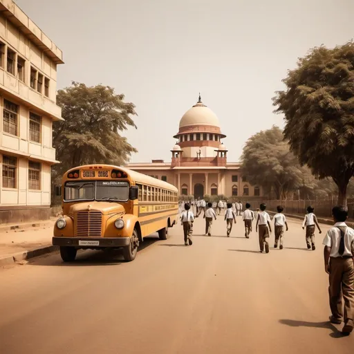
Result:
{"label": "long low brown fence behind the boys, below the right-hand trees", "polygon": [[[281,205],[284,208],[286,214],[305,214],[308,205],[312,205],[315,208],[315,214],[317,216],[330,218],[332,216],[332,208],[337,205],[337,200],[299,200],[299,201],[252,201],[252,209],[259,207],[259,204],[265,203],[267,209],[276,212],[277,206]],[[354,218],[354,201],[348,200],[348,216]]]}

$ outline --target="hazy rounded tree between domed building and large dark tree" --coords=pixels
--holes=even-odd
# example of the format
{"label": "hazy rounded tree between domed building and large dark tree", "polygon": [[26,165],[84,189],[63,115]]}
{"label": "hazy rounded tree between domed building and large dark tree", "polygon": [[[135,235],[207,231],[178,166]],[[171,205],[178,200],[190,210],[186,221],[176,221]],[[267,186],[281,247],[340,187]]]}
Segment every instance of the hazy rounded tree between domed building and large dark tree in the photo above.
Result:
{"label": "hazy rounded tree between domed building and large dark tree", "polygon": [[299,165],[278,127],[252,136],[243,148],[242,171],[252,185],[273,189],[277,199],[299,189],[309,171]]}

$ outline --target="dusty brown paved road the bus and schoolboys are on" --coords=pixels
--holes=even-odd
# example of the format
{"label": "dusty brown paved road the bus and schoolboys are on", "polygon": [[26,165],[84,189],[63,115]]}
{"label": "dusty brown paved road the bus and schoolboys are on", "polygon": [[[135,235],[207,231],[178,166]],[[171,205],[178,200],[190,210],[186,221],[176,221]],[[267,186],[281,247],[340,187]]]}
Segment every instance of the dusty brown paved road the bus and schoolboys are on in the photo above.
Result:
{"label": "dusty brown paved road the bus and schoolboys are on", "polygon": [[327,322],[323,235],[308,251],[292,221],[285,248],[260,254],[238,219],[230,239],[221,218],[197,236],[197,219],[191,247],[178,225],[132,263],[86,251],[0,270],[0,353],[353,353]]}

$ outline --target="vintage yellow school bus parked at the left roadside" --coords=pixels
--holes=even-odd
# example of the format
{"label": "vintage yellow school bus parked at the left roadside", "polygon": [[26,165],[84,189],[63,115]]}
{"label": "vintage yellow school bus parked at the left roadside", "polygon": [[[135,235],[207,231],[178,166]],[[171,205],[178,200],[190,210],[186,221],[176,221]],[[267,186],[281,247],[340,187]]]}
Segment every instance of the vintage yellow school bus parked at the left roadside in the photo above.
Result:
{"label": "vintage yellow school bus parked at the left roadside", "polygon": [[133,261],[145,236],[167,239],[178,218],[178,189],[123,167],[86,165],[64,174],[62,208],[53,245],[64,262],[74,261],[79,249],[107,248],[122,248]]}

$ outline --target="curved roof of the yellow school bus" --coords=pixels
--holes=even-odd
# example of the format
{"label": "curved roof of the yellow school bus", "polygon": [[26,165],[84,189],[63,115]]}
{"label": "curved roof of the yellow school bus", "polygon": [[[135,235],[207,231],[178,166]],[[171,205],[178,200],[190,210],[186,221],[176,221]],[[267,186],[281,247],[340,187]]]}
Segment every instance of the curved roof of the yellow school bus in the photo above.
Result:
{"label": "curved roof of the yellow school bus", "polygon": [[71,171],[75,171],[75,169],[88,169],[89,167],[93,166],[99,166],[102,167],[102,169],[120,169],[120,171],[123,171],[128,174],[133,180],[135,180],[136,183],[142,183],[142,184],[147,184],[147,185],[152,185],[153,187],[160,187],[164,189],[169,189],[174,192],[178,192],[178,189],[174,186],[171,185],[170,183],[167,183],[163,180],[158,180],[157,178],[153,178],[150,176],[147,176],[146,174],[140,174],[140,172],[133,171],[132,169],[127,169],[126,167],[120,167],[120,166],[115,166],[115,165],[105,165],[105,164],[94,164],[94,165],[83,165],[83,166],[77,166],[73,167],[72,169],[69,169],[66,171],[64,174],[64,177],[66,177],[67,174],[69,174]]}

